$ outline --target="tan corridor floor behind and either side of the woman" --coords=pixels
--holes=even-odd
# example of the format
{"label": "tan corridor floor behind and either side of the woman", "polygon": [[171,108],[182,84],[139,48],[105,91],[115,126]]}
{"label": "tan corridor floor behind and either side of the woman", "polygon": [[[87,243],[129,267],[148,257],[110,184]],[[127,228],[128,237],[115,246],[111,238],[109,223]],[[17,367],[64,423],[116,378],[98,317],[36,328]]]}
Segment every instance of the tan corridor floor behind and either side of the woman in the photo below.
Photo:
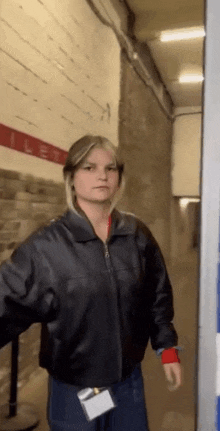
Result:
{"label": "tan corridor floor behind and either side of the woman", "polygon": [[[184,369],[183,386],[170,392],[160,359],[147,349],[142,363],[150,431],[194,431],[196,380],[195,360],[197,342],[197,252],[191,251],[184,259],[169,268],[174,291],[174,324],[179,335],[180,353]],[[19,394],[19,403],[32,403],[40,423],[37,431],[48,431],[46,421],[47,373],[42,373]],[[120,430],[119,430],[120,431]]]}

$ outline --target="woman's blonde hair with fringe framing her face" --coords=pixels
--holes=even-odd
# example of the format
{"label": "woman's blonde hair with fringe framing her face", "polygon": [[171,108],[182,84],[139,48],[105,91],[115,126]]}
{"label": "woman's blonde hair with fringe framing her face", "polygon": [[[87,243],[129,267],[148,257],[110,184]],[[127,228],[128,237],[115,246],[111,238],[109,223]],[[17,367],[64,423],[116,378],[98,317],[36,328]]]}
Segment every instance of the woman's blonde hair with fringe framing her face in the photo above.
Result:
{"label": "woman's blonde hair with fringe framing her face", "polygon": [[67,206],[74,212],[76,212],[76,208],[74,188],[72,186],[73,176],[76,170],[79,168],[79,165],[83,163],[86,156],[94,148],[103,148],[106,150],[110,150],[113,153],[116,167],[118,169],[119,189],[115,193],[115,196],[113,197],[113,200],[111,202],[110,212],[115,208],[125,188],[124,164],[120,160],[117,148],[103,136],[83,136],[70,147],[68,156],[66,158],[66,163],[63,168]]}

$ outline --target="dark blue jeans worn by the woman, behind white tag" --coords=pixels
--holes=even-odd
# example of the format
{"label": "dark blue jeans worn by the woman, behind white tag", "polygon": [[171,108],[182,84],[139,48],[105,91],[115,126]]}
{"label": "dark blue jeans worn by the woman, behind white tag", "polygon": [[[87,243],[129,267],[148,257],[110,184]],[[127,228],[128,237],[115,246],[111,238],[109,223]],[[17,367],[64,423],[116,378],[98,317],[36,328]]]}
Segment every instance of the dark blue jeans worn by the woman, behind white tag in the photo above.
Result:
{"label": "dark blue jeans worn by the woman, behind white tag", "polygon": [[111,386],[117,407],[88,422],[75,386],[49,380],[51,431],[149,431],[140,365],[125,381]]}

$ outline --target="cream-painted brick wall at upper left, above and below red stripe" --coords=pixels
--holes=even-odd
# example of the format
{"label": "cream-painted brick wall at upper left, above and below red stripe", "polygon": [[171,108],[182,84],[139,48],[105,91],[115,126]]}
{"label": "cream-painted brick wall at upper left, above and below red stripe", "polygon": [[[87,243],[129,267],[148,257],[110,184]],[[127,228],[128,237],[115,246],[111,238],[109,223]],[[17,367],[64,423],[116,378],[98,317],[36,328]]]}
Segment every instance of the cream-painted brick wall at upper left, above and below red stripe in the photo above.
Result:
{"label": "cream-painted brick wall at upper left, above and below red stripe", "polygon": [[[0,18],[0,123],[65,150],[86,133],[117,145],[120,46],[87,1],[1,0]],[[0,168],[62,179],[62,166],[2,146]]]}

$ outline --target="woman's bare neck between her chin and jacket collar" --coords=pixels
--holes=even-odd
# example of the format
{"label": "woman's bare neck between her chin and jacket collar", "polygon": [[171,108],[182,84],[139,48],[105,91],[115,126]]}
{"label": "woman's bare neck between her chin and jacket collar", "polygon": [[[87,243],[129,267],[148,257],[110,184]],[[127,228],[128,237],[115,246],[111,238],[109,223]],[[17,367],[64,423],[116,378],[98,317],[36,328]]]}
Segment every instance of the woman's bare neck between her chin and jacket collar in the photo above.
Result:
{"label": "woman's bare neck between her chin and jacket collar", "polygon": [[77,200],[77,204],[84,211],[94,227],[108,223],[110,215],[110,202],[93,203]]}

